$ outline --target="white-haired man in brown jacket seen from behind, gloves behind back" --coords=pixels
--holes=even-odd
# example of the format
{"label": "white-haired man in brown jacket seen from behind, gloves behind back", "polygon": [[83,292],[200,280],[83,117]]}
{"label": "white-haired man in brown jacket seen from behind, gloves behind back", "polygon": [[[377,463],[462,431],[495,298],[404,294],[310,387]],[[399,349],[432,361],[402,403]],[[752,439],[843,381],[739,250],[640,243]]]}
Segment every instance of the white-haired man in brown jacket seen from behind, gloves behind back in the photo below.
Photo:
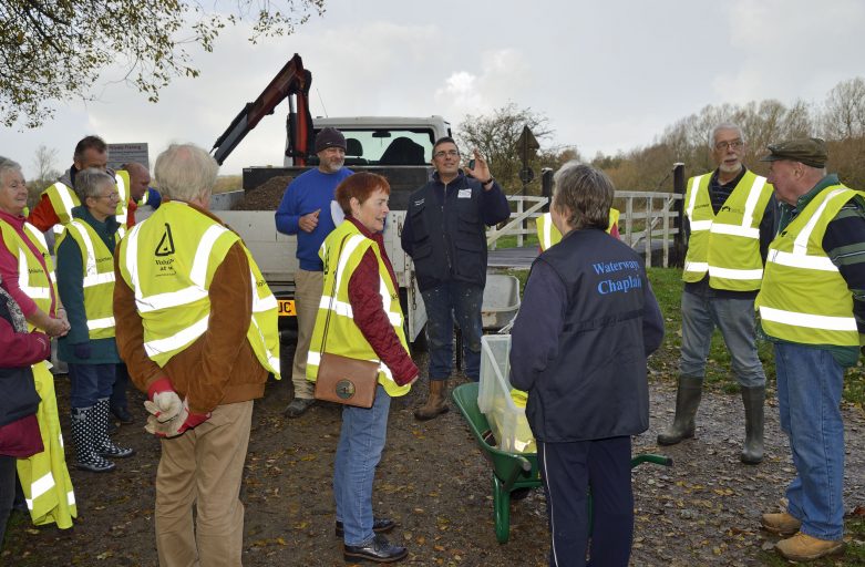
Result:
{"label": "white-haired man in brown jacket seen from behind, gloves behind back", "polygon": [[169,200],[117,248],[114,310],[162,440],[156,549],[162,566],[239,566],[253,400],[279,373],[277,305],[240,237],[207,210],[213,157],[172,145],[155,173]]}

